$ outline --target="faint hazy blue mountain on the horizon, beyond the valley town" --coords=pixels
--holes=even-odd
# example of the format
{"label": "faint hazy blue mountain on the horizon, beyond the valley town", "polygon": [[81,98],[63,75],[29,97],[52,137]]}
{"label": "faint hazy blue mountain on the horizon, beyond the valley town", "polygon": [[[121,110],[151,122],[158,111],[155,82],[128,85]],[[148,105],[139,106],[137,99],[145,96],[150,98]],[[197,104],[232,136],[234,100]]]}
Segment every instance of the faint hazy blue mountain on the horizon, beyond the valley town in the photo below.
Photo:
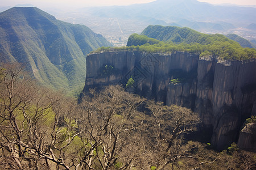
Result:
{"label": "faint hazy blue mountain on the horizon, beyond the valley town", "polygon": [[130,6],[90,7],[88,14],[101,17],[137,18],[147,16],[155,19],[196,22],[251,23],[256,17],[256,8],[238,6],[214,6],[196,0],[158,0]]}

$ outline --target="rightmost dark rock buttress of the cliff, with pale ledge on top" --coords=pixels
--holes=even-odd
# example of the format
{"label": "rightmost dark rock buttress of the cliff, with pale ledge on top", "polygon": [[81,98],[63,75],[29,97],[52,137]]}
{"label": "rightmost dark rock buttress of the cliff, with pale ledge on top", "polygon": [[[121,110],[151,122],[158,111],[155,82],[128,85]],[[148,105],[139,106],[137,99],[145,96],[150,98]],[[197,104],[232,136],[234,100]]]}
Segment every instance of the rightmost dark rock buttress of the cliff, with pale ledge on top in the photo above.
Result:
{"label": "rightmost dark rock buttress of the cliff, with pale ledge on top", "polygon": [[212,92],[212,142],[217,148],[236,140],[236,132],[246,117],[253,114],[256,100],[256,62],[232,61],[217,63]]}

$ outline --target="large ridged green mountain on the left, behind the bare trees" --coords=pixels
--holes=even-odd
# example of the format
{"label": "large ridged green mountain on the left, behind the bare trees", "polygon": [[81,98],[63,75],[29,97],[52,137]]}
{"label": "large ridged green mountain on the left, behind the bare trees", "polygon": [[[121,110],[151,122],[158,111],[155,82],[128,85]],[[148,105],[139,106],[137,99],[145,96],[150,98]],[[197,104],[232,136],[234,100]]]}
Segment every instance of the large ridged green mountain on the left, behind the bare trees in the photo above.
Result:
{"label": "large ridged green mountain on the left, behind the bare trees", "polygon": [[80,88],[85,82],[85,56],[100,46],[110,44],[88,27],[61,22],[36,7],[0,13],[1,60],[23,63],[49,87]]}

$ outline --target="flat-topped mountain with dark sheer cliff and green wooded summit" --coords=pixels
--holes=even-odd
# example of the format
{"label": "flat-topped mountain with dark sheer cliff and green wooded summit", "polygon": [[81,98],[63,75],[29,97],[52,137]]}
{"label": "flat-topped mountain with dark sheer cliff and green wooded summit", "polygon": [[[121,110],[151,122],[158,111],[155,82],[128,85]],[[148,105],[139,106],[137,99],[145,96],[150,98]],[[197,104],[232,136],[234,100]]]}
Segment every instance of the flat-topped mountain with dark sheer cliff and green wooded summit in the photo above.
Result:
{"label": "flat-topped mountain with dark sheer cliff and green wooded summit", "polygon": [[[160,25],[131,35],[127,45],[88,55],[85,94],[89,88],[121,84],[147,99],[199,113],[200,135],[217,150],[237,141],[240,148],[256,150],[254,128],[244,127],[256,114],[255,49],[242,48],[224,35]],[[201,55],[200,50],[212,54]],[[243,59],[246,54],[250,57]],[[228,55],[231,58],[225,59]],[[130,79],[132,86],[127,88]]]}

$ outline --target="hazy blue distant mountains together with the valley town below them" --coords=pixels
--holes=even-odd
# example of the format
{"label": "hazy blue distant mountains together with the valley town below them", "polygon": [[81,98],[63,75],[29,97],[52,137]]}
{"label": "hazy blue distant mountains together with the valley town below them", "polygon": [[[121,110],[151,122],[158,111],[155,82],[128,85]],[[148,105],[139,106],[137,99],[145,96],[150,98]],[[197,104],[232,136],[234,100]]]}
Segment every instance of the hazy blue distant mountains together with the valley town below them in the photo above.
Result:
{"label": "hazy blue distant mountains together with the valley town below them", "polygon": [[203,33],[236,33],[249,40],[256,39],[254,7],[211,5],[196,0],[158,0],[52,12],[66,22],[87,25],[115,45],[126,44],[131,33],[141,33],[148,25],[189,27]]}

